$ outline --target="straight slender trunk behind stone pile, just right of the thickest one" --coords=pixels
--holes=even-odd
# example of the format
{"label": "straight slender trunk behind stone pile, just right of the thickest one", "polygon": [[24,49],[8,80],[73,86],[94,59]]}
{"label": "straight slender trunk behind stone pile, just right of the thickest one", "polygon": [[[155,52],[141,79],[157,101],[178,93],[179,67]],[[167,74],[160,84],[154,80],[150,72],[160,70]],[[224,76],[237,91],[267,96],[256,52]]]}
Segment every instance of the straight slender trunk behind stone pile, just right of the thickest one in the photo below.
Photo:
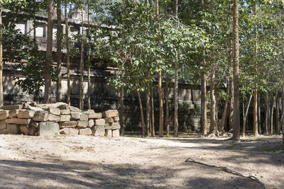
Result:
{"label": "straight slender trunk behind stone pile, just right of the thickest one", "polygon": [[56,86],[56,101],[62,101],[61,92],[61,80],[62,80],[62,68],[61,68],[61,43],[62,43],[62,28],[61,28],[61,1],[57,0],[57,17],[58,17],[58,27],[57,27],[57,58],[58,58],[58,82]]}

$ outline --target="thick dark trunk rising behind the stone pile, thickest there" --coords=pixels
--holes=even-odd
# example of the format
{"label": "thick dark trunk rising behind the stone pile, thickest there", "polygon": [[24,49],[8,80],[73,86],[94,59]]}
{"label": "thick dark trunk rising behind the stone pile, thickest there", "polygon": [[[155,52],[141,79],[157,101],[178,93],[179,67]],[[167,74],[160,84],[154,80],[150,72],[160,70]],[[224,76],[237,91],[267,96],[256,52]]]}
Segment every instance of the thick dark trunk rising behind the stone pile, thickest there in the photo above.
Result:
{"label": "thick dark trunk rising behind the stone pile, thickest there", "polygon": [[45,103],[50,103],[51,75],[50,67],[53,57],[53,0],[48,0],[48,39],[45,59]]}

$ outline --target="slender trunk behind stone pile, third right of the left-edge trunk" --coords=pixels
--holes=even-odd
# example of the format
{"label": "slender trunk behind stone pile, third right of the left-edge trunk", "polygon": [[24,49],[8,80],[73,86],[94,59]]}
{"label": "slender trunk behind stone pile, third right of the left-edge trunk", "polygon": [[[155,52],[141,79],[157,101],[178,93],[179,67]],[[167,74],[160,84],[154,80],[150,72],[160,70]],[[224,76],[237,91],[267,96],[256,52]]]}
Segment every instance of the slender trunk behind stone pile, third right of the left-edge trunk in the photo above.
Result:
{"label": "slender trunk behind stone pile, third right of the left-edge trunk", "polygon": [[65,38],[66,38],[66,63],[67,63],[67,103],[70,105],[70,47],[69,27],[67,19],[67,0],[64,0]]}

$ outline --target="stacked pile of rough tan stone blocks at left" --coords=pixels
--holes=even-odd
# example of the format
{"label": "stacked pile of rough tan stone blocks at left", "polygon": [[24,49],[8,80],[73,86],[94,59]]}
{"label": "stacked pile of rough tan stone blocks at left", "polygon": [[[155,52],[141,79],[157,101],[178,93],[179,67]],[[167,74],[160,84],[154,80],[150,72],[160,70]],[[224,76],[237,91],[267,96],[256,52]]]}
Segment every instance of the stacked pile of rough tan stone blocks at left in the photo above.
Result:
{"label": "stacked pile of rough tan stone blocks at left", "polygon": [[4,105],[0,110],[0,134],[54,136],[83,134],[119,137],[119,113],[80,110],[67,103]]}

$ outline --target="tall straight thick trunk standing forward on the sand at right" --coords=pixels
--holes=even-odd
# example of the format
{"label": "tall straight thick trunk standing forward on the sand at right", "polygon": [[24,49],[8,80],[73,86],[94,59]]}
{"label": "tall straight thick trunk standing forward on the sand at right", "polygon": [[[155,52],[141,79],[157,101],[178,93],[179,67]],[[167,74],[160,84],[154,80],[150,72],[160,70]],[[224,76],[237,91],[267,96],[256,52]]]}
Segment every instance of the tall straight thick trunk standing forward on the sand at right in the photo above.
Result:
{"label": "tall straight thick trunk standing forward on the sand at right", "polygon": [[234,82],[234,113],[233,113],[233,137],[235,141],[240,139],[239,118],[239,0],[234,0],[233,13],[233,82]]}

